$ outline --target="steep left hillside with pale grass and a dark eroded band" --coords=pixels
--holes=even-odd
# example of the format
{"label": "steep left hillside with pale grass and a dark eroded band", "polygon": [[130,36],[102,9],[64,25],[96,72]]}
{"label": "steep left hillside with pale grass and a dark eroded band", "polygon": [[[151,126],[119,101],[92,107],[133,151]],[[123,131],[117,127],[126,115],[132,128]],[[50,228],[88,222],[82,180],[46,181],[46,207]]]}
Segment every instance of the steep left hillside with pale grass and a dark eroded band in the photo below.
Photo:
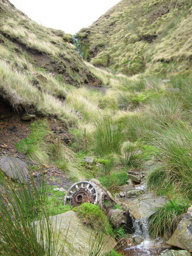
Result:
{"label": "steep left hillside with pale grass and a dark eroded band", "polygon": [[70,116],[61,101],[66,84],[100,83],[71,42],[72,35],[41,26],[0,0],[1,97],[15,109]]}

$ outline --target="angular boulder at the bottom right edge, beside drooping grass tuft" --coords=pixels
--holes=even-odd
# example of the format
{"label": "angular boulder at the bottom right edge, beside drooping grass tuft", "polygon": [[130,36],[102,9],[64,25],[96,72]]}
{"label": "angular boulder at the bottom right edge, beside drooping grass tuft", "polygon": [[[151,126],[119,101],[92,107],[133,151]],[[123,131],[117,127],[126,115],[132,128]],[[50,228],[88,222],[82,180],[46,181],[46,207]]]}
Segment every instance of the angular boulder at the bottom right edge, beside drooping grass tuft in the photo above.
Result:
{"label": "angular boulder at the bottom right edge, beside drooping grass tuft", "polygon": [[192,206],[183,214],[168,244],[192,252]]}

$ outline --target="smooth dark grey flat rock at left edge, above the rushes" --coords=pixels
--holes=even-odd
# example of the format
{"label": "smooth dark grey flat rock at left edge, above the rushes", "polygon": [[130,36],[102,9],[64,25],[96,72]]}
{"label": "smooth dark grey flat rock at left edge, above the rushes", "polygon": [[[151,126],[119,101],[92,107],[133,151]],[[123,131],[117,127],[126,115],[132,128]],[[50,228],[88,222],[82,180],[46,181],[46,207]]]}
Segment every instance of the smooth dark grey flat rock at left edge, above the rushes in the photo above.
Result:
{"label": "smooth dark grey flat rock at left edge, above the rushes", "polygon": [[28,167],[26,163],[16,157],[1,157],[0,169],[6,176],[19,183],[27,182],[27,175],[29,174]]}

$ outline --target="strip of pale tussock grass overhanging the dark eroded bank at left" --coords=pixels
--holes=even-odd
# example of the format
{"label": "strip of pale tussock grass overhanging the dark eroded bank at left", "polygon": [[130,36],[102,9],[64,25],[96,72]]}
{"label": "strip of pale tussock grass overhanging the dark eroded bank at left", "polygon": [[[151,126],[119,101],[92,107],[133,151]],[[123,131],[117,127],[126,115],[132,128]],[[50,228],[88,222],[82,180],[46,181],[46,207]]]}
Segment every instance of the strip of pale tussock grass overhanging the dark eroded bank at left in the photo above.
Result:
{"label": "strip of pale tussock grass overhanging the dark eroded bank at left", "polygon": [[0,60],[0,75],[1,95],[8,99],[14,108],[27,109],[35,106],[36,110],[44,115],[69,119],[72,124],[78,122],[78,116],[70,105],[64,104],[60,99],[49,94],[50,92],[40,92],[24,74],[3,60]]}

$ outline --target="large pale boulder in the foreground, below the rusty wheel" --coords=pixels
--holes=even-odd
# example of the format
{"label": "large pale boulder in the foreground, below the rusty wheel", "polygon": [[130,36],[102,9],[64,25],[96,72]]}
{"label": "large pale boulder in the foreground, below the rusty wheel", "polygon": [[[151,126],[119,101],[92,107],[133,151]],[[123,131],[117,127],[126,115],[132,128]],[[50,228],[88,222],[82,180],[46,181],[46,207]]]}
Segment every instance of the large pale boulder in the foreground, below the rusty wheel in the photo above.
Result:
{"label": "large pale boulder in the foreground, below the rusty wheel", "polygon": [[[55,231],[54,237],[59,236],[56,249],[58,256],[90,255],[92,244],[96,241],[96,237],[99,239],[99,234],[90,227],[85,226],[76,212],[68,211],[49,218],[52,220],[52,229]],[[39,236],[39,221],[36,221],[36,226],[37,235]],[[44,244],[46,244],[45,234],[43,239]],[[104,245],[102,249],[103,254],[108,253],[116,246],[116,242],[112,237],[107,235],[102,239],[102,243]]]}

